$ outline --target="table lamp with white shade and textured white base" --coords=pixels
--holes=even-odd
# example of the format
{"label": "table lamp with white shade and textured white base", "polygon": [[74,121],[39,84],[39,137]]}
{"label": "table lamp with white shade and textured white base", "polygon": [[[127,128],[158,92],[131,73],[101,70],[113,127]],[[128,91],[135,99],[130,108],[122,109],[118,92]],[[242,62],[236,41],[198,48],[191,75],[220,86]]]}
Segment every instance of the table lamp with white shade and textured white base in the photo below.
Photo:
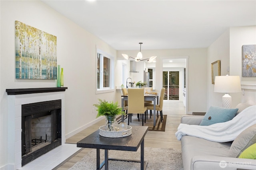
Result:
{"label": "table lamp with white shade and textured white base", "polygon": [[231,108],[232,98],[229,93],[241,92],[241,84],[239,76],[215,76],[214,92],[225,93],[222,96],[222,107]]}

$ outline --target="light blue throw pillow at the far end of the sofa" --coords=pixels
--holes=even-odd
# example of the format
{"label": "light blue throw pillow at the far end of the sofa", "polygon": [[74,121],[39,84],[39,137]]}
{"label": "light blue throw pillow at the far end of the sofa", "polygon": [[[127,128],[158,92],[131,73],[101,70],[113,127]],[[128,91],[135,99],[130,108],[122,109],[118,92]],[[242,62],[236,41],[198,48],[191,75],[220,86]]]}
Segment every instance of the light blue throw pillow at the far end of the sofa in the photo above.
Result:
{"label": "light blue throw pillow at the far end of the sofa", "polygon": [[228,109],[223,107],[211,106],[209,110],[204,115],[200,125],[208,126],[214,123],[222,123],[230,121],[236,116],[238,109]]}

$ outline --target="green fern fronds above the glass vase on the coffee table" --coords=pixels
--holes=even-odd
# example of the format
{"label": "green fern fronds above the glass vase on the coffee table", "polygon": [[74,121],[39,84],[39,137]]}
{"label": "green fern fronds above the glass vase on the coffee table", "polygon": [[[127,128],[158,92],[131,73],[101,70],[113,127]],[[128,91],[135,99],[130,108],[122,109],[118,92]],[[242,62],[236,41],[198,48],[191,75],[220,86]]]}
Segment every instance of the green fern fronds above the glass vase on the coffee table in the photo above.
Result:
{"label": "green fern fronds above the glass vase on the coffee table", "polygon": [[100,116],[116,116],[124,114],[122,107],[118,106],[118,102],[108,103],[106,100],[99,100],[99,104],[94,104],[93,106],[97,107],[98,114],[96,117]]}

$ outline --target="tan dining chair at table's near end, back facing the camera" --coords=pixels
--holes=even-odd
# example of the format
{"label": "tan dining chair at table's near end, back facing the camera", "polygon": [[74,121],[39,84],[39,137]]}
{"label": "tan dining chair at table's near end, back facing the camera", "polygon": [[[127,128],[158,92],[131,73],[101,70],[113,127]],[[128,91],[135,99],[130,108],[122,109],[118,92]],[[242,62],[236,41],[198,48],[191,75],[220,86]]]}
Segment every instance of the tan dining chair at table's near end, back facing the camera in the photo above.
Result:
{"label": "tan dining chair at table's near end, back facing the camera", "polygon": [[[128,125],[130,119],[132,119],[132,113],[137,113],[142,115],[142,126],[143,117],[145,115],[146,123],[146,109],[144,106],[144,89],[143,88],[128,88]],[[140,121],[140,117],[138,116]]]}

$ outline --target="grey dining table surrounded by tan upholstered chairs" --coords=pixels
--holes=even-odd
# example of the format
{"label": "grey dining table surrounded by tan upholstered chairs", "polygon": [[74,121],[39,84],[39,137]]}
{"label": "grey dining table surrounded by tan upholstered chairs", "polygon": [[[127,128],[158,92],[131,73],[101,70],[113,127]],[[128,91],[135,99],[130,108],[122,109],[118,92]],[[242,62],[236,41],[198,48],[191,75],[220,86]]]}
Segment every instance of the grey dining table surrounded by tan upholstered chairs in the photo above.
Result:
{"label": "grey dining table surrounded by tan upholstered chairs", "polygon": [[[122,108],[124,111],[124,101],[127,100],[128,101],[128,95],[122,95],[121,96],[122,98]],[[153,101],[153,104],[154,104],[154,126],[156,126],[156,104],[158,104],[158,93],[157,94],[150,94],[150,93],[145,93],[144,94],[144,101]],[[157,114],[158,116],[158,114]],[[124,115],[122,115],[122,122],[124,122]]]}

